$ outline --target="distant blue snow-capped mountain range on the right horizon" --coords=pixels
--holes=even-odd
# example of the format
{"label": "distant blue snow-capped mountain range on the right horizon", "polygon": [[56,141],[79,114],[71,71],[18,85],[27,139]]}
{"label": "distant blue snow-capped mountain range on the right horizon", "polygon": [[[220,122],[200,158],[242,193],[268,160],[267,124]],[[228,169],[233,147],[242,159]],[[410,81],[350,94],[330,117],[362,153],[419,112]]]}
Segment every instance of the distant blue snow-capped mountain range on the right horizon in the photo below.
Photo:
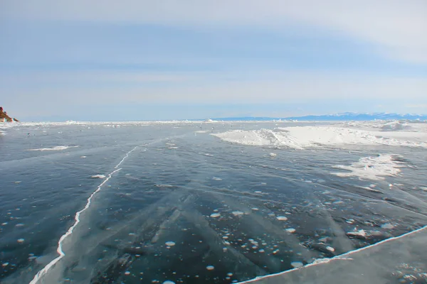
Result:
{"label": "distant blue snow-capped mountain range on the right horizon", "polygon": [[427,120],[427,114],[357,114],[354,112],[344,112],[342,114],[325,114],[319,116],[290,116],[290,117],[222,117],[212,118],[216,121],[271,121],[271,120],[297,120],[297,121],[370,121],[370,120]]}

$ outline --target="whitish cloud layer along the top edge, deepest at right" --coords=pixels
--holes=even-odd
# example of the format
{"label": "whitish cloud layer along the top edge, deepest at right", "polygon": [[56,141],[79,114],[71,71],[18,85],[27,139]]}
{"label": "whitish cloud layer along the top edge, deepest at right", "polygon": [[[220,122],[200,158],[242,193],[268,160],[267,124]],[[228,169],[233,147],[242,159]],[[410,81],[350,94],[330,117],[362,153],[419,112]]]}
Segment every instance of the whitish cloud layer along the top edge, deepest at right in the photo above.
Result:
{"label": "whitish cloud layer along the top edge, deepest at right", "polygon": [[13,20],[154,23],[208,28],[263,26],[280,32],[302,24],[350,35],[397,60],[427,62],[424,0],[28,0],[2,2],[0,18]]}

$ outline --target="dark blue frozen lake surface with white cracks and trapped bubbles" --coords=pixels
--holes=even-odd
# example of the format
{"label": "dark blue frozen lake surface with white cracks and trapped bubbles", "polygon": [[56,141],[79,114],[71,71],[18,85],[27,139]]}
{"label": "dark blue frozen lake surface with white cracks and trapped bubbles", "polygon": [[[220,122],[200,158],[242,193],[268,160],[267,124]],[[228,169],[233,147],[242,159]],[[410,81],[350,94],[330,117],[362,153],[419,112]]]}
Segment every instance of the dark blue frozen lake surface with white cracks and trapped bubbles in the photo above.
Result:
{"label": "dark blue frozen lake surface with white cracks and trapped bubbles", "polygon": [[[275,127],[141,123],[3,129],[0,281],[29,283],[58,257],[58,241],[82,209],[61,244],[65,256],[41,283],[231,283],[288,271],[295,263],[307,265],[427,224],[427,195],[420,189],[426,185],[423,149],[272,149],[209,135]],[[207,132],[195,133],[200,130]],[[31,151],[58,146],[70,148]],[[277,156],[271,157],[272,151]],[[404,157],[399,176],[368,181],[330,174],[337,171],[333,165],[380,153]],[[109,180],[99,187],[105,179],[95,175]],[[362,188],[373,183],[379,192]],[[348,234],[362,230],[366,236]]]}

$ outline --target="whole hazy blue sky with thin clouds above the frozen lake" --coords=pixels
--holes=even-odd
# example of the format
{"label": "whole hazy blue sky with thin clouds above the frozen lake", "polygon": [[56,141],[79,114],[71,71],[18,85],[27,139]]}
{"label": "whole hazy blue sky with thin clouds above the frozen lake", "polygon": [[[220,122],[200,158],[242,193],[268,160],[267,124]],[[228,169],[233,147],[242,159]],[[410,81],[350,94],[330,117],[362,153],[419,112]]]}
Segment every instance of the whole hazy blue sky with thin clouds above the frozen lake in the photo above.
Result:
{"label": "whole hazy blue sky with thin clouds above the frozen lake", "polygon": [[19,119],[427,113],[427,1],[0,0]]}

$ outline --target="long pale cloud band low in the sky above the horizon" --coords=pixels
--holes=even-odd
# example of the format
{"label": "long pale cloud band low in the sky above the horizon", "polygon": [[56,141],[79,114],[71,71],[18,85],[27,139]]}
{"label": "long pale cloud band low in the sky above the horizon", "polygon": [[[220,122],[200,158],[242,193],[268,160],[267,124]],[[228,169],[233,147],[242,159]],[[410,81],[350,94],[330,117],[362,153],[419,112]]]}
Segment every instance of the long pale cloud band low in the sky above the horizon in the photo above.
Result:
{"label": "long pale cloud band low in the sky above the horizon", "polygon": [[[233,80],[228,80],[228,77]],[[16,84],[9,80],[25,82]],[[42,107],[57,104],[239,104],[310,102],[314,99],[417,101],[427,81],[411,77],[369,77],[339,72],[64,72],[0,80],[5,101]],[[153,83],[153,84],[152,84]],[[60,99],[58,100],[58,97]]]}

